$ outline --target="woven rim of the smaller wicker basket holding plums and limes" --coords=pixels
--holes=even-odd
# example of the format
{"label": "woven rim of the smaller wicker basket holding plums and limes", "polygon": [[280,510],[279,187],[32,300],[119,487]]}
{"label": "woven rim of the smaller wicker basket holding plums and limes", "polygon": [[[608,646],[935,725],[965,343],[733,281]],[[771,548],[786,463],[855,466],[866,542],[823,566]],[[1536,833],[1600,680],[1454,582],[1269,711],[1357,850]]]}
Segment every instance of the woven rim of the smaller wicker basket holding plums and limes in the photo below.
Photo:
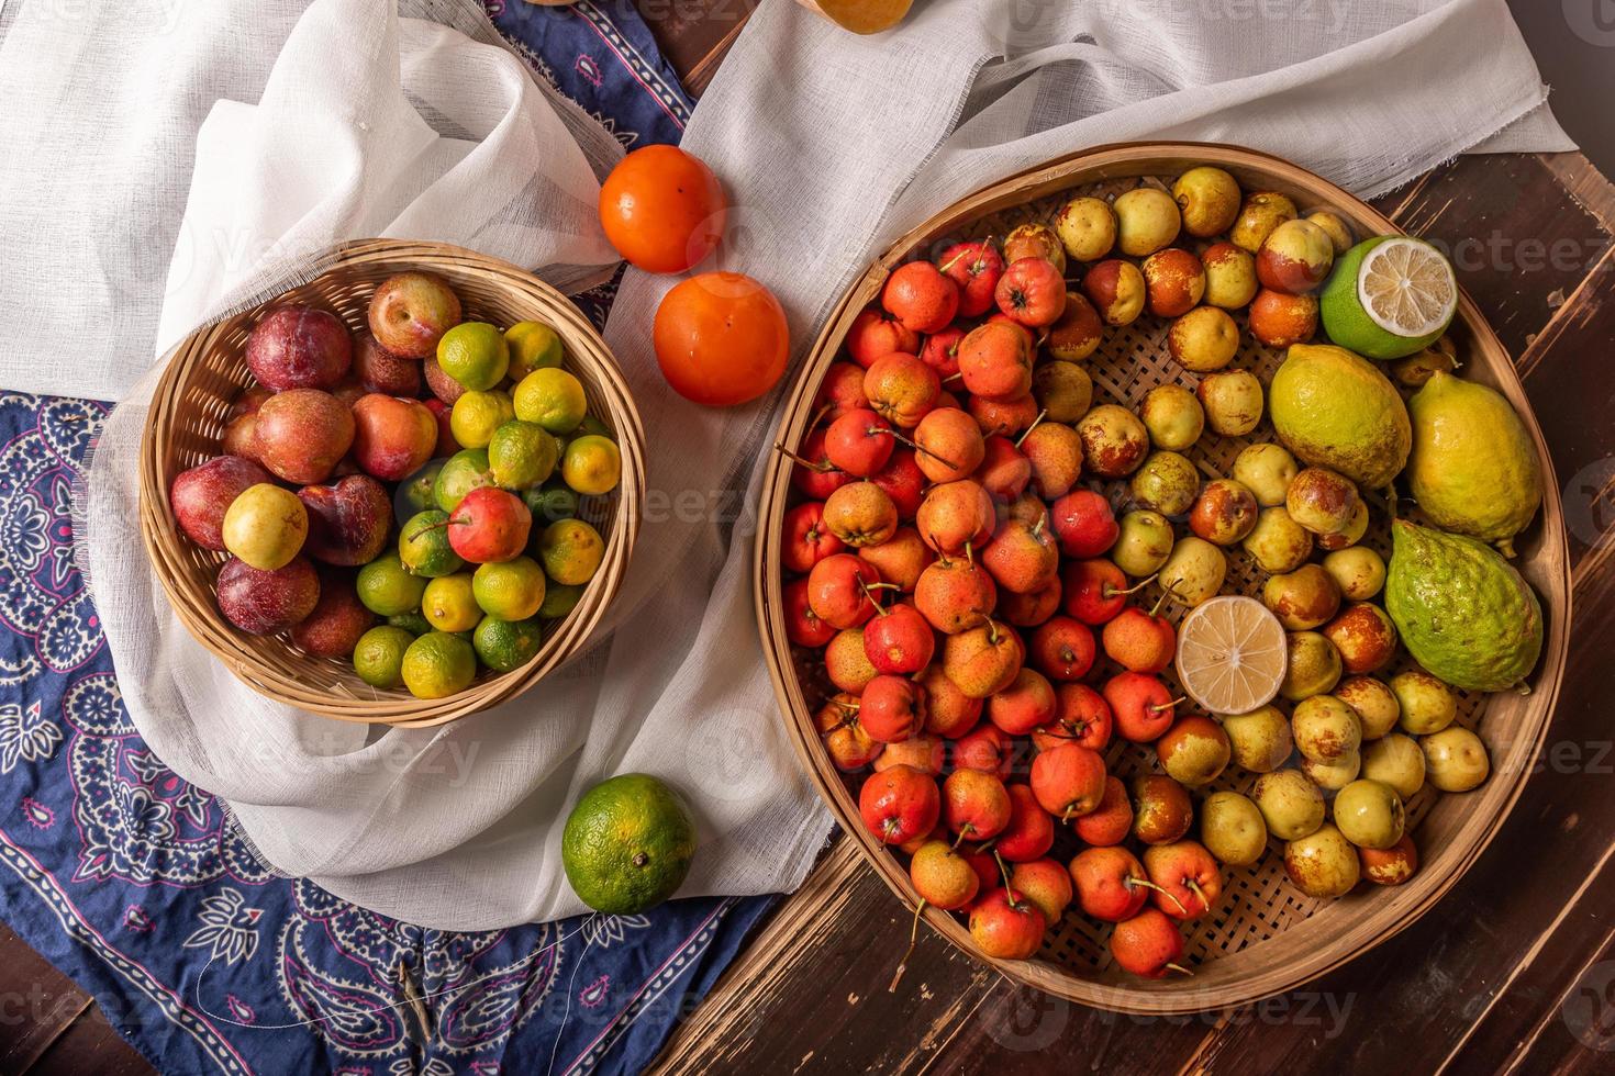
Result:
{"label": "woven rim of the smaller wicker basket holding plums and limes", "polygon": [[[606,550],[594,578],[586,584],[578,605],[562,618],[544,637],[538,653],[526,665],[509,673],[484,673],[470,687],[446,699],[413,699],[405,692],[381,694],[365,699],[349,694],[341,684],[331,689],[310,687],[307,682],[266,668],[247,649],[244,632],[228,626],[213,605],[212,589],[202,608],[208,616],[195,616],[187,605],[197,603],[195,587],[176,558],[189,545],[179,532],[168,507],[165,447],[160,442],[168,427],[171,407],[165,402],[184,390],[189,374],[199,369],[220,345],[220,337],[242,321],[250,321],[286,295],[276,295],[257,303],[242,303],[208,319],[179,340],[160,361],[163,365],[141,432],[141,537],[153,574],[163,586],[170,611],[184,624],[187,634],[218,658],[241,682],[257,694],[307,713],[360,724],[399,728],[431,728],[480,713],[509,702],[551,671],[565,663],[578,647],[591,637],[612,598],[615,597],[633,545],[638,539],[646,486],[644,427],[633,394],[622,374],[615,355],[604,337],[578,307],[562,292],[538,279],[520,266],[476,253],[465,247],[430,240],[404,239],[354,239],[333,244],[310,263],[310,273],[289,290],[313,289],[329,282],[347,269],[405,271],[418,268],[454,276],[457,269],[483,276],[484,286],[502,290],[515,300],[541,307],[541,316],[567,345],[567,365],[585,369],[598,382],[599,395],[617,436],[622,453],[622,482],[617,487],[615,505],[602,537]],[[452,281],[451,281],[452,282]],[[171,478],[171,476],[170,476]],[[283,640],[284,642],[284,640]],[[289,642],[284,642],[291,649]],[[333,660],[333,668],[336,663]]]}

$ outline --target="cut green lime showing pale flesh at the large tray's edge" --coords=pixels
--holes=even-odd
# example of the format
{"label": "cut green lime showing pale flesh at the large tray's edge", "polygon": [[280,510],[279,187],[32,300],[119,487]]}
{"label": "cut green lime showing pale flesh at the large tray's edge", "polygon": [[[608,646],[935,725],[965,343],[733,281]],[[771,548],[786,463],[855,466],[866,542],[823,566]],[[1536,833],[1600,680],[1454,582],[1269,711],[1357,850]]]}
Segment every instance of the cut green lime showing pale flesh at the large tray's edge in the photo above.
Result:
{"label": "cut green lime showing pale flesh at the large tray's edge", "polygon": [[1347,250],[1319,298],[1329,339],[1368,358],[1424,350],[1457,310],[1452,263],[1412,236],[1378,236]]}

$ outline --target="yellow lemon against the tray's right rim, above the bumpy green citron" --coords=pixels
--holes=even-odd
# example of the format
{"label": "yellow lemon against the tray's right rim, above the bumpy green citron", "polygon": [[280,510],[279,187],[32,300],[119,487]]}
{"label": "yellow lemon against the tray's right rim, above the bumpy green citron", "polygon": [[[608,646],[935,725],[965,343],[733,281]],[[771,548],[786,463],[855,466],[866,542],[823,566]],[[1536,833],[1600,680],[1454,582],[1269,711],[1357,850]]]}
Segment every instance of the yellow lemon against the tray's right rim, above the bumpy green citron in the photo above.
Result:
{"label": "yellow lemon against the tray's right rim, above the bumpy green citron", "polygon": [[1515,534],[1542,503],[1542,465],[1525,423],[1495,389],[1437,371],[1408,400],[1408,489],[1442,531],[1513,557]]}

